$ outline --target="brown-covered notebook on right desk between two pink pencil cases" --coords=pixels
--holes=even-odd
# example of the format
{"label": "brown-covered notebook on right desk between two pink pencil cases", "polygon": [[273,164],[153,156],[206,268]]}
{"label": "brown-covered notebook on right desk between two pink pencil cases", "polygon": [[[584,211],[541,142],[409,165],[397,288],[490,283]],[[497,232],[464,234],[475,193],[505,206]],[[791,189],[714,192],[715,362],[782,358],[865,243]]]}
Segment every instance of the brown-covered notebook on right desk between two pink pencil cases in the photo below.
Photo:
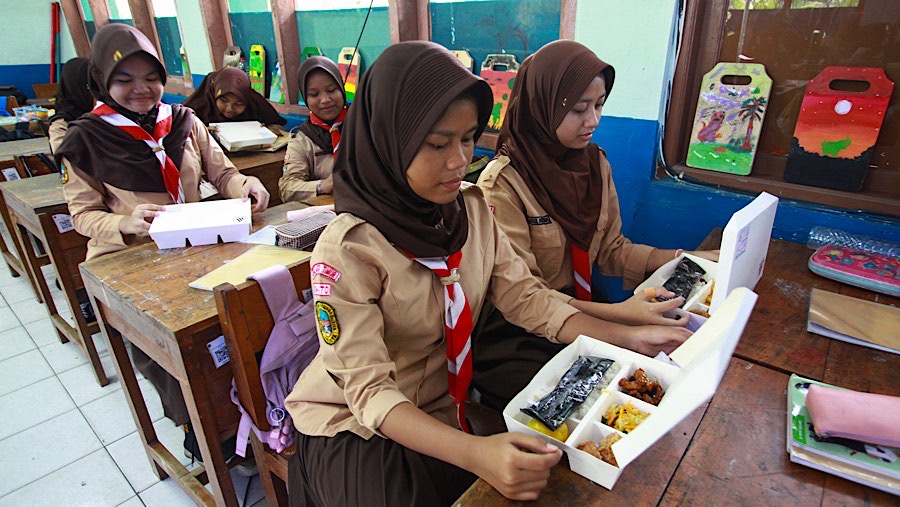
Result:
{"label": "brown-covered notebook on right desk between two pink pencil cases", "polygon": [[900,354],[897,329],[900,329],[900,308],[812,290],[806,326],[811,333]]}

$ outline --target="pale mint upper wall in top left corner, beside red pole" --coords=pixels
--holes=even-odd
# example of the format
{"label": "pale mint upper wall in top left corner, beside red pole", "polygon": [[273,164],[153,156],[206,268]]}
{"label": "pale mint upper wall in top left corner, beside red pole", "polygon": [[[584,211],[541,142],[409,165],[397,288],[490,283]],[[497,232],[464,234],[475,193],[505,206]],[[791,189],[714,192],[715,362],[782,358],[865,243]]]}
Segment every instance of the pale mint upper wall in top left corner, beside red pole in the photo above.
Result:
{"label": "pale mint upper wall in top left corner, beside red pole", "polygon": [[[0,30],[0,65],[50,64],[51,0],[0,0],[4,30]],[[61,60],[78,56],[66,26],[60,17]]]}

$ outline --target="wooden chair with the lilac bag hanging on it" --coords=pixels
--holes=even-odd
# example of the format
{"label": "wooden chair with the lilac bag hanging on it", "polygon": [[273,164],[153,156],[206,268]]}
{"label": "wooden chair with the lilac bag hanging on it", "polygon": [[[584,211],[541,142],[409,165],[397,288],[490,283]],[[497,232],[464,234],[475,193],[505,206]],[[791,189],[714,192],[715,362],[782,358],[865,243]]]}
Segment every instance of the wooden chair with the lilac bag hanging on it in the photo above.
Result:
{"label": "wooden chair with the lilac bag hanging on it", "polygon": [[[292,264],[288,269],[294,279],[297,294],[301,300],[305,300],[303,290],[310,287],[309,260]],[[257,359],[257,355],[261,355],[265,349],[275,325],[266,299],[259,284],[253,280],[237,287],[223,283],[215,287],[213,292],[222,333],[228,345],[238,399],[250,414],[253,424],[262,431],[268,431],[270,427],[266,418],[266,397],[259,378]],[[250,443],[269,505],[287,505],[288,460],[295,449],[292,447],[277,454],[260,442],[252,432]]]}

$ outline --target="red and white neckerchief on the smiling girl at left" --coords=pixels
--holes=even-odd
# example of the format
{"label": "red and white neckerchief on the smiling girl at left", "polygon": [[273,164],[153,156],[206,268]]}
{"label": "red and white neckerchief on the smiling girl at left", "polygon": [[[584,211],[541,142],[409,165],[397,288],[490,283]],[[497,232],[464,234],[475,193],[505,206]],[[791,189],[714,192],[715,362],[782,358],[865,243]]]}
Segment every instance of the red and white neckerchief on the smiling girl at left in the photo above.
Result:
{"label": "red and white neckerchief on the smiling girl at left", "polygon": [[140,125],[119,114],[115,109],[99,100],[91,113],[99,116],[106,123],[118,127],[131,137],[147,143],[147,146],[153,150],[153,154],[159,160],[159,168],[162,171],[166,191],[169,192],[176,204],[181,204],[184,202],[184,190],[181,188],[178,167],[166,155],[166,150],[163,148],[165,137],[172,131],[172,106],[160,102],[157,104],[157,110],[156,125],[153,127],[152,136],[142,129]]}

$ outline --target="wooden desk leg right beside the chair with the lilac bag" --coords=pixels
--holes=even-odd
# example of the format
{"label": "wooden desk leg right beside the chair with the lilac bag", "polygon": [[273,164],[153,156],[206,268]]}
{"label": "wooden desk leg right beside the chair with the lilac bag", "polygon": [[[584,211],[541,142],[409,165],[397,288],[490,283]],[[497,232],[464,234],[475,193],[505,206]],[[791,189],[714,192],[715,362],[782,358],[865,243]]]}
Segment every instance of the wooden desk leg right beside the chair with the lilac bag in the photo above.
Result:
{"label": "wooden desk leg right beside the chair with the lilac bag", "polygon": [[[207,331],[208,333],[208,331]],[[202,361],[209,361],[206,343],[221,333],[216,330],[210,336],[202,333],[191,337],[193,346],[182,348],[182,362],[184,364],[187,381],[181,383],[181,392],[191,417],[191,426],[197,437],[200,447],[200,455],[207,471],[207,480],[212,486],[213,495],[217,505],[238,507],[235,495],[234,483],[225,456],[222,455],[222,446],[219,442],[218,424],[216,413],[203,375]],[[201,356],[207,354],[207,357]],[[218,403],[231,403],[230,400],[218,400]],[[211,466],[209,464],[212,464]],[[209,473],[212,471],[213,473]],[[204,489],[204,492],[206,490]]]}

